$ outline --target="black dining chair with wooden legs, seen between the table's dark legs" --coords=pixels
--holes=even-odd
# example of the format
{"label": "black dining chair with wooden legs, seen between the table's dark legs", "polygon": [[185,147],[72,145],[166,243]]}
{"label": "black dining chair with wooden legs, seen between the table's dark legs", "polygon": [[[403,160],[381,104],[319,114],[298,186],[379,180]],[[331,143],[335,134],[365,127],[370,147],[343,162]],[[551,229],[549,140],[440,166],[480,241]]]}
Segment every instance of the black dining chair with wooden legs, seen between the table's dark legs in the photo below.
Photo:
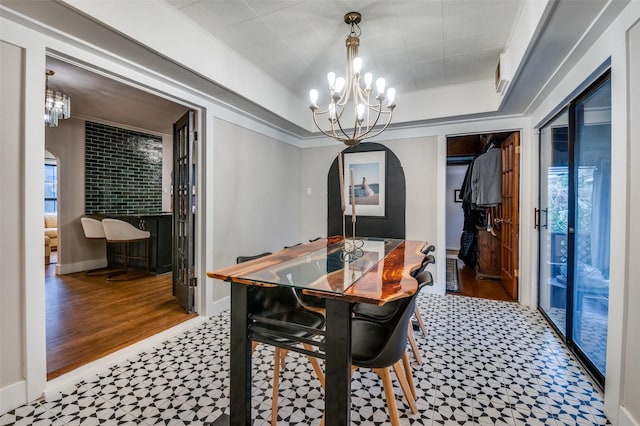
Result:
{"label": "black dining chair with wooden legs, seen between the table's dark legs", "polygon": [[[271,253],[262,253],[253,256],[238,256],[237,263],[247,262],[268,256]],[[312,330],[322,330],[325,324],[324,315],[305,309],[289,287],[258,287],[251,286],[248,289],[248,311],[252,320],[250,326],[253,339],[252,348],[255,349],[257,341],[271,343],[275,347],[273,394],[271,403],[271,424],[275,425],[278,418],[278,390],[280,385],[280,368],[284,367],[287,349],[279,345],[295,345],[300,339],[310,339],[314,336]],[[264,321],[265,319],[266,321]],[[271,321],[281,321],[293,324],[293,327],[280,326]],[[296,327],[301,326],[301,327]],[[312,351],[309,343],[302,343],[306,351]],[[324,388],[324,374],[318,360],[308,355],[320,385]]]}

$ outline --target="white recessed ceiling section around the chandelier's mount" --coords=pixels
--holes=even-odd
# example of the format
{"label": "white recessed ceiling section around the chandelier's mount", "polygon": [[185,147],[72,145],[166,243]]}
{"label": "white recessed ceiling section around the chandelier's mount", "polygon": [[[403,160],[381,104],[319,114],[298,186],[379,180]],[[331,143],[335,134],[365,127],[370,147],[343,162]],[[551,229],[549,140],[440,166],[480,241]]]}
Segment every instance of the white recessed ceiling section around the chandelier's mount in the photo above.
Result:
{"label": "white recessed ceiling section around the chandelier's mount", "polygon": [[399,96],[486,80],[508,45],[522,0],[166,0],[293,92],[345,72],[344,15],[360,12],[363,70]]}

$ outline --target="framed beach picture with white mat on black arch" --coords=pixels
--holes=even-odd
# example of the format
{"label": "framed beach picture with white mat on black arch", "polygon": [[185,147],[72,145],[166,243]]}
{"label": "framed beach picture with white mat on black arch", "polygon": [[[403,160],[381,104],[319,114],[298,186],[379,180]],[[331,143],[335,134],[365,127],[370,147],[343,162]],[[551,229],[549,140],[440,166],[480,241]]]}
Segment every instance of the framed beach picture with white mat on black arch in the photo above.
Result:
{"label": "framed beach picture with white mat on black arch", "polygon": [[351,216],[355,208],[356,216],[385,216],[385,167],[385,151],[344,154],[345,214]]}

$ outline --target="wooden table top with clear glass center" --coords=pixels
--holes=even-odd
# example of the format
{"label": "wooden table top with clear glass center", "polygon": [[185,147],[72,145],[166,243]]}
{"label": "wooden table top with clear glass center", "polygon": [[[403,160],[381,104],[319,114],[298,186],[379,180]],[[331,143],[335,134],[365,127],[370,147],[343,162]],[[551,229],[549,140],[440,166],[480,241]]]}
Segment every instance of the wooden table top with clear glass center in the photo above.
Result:
{"label": "wooden table top with clear glass center", "polygon": [[[424,241],[362,238],[360,256],[340,257],[342,237],[321,238],[269,256],[207,272],[207,276],[247,285],[285,285],[304,293],[349,302],[382,305],[412,295]],[[352,241],[347,239],[345,242]]]}

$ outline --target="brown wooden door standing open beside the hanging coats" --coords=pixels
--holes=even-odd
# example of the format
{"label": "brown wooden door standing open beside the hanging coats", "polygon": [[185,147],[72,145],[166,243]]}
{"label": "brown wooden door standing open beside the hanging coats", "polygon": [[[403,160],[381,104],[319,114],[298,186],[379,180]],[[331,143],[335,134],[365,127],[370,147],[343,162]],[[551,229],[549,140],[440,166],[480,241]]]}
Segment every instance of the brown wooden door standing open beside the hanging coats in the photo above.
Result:
{"label": "brown wooden door standing open beside the hanging coats", "polygon": [[520,133],[514,132],[501,145],[502,149],[502,210],[501,271],[505,290],[518,298],[518,240],[519,240],[519,179]]}

